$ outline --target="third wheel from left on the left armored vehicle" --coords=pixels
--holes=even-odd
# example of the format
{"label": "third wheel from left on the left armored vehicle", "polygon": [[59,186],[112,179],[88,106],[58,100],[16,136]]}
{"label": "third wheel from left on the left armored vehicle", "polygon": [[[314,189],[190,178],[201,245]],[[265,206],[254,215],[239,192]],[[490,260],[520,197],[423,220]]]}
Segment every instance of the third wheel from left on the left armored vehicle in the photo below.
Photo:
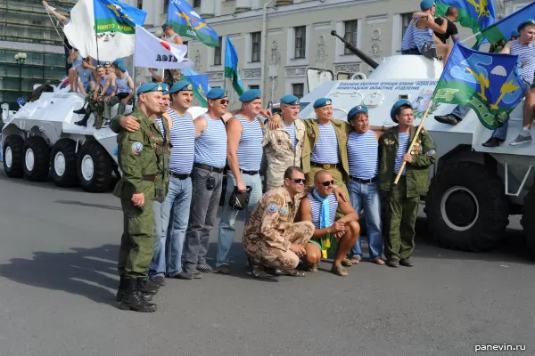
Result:
{"label": "third wheel from left on the left armored vehicle", "polygon": [[61,139],[55,142],[50,155],[50,174],[58,187],[70,188],[78,185],[76,142]]}

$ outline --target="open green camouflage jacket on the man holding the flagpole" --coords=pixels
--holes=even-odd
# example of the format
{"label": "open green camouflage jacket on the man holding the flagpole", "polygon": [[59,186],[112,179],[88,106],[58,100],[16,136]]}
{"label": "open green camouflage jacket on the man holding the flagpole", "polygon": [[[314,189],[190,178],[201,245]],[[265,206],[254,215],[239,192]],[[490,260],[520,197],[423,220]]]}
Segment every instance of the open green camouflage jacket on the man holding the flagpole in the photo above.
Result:
{"label": "open green camouflage jacket on the man holding the flagpole", "polygon": [[[416,134],[412,126],[408,144]],[[399,126],[386,131],[379,139],[379,189],[390,191],[396,178],[394,166],[399,148]],[[435,163],[437,152],[432,137],[424,130],[418,134],[418,140],[411,150],[412,163],[407,163],[407,198],[424,194],[429,188],[430,166]]]}

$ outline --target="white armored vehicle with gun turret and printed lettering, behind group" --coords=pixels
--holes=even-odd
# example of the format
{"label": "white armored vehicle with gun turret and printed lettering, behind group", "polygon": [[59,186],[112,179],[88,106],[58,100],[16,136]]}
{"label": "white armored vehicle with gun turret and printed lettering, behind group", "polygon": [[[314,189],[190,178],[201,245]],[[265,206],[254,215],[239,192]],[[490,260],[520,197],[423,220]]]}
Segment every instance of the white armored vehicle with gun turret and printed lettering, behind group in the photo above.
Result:
{"label": "white armored vehicle with gun turret and printed lettering, behind group", "polygon": [[[337,36],[335,31],[332,35]],[[374,68],[373,72],[369,77],[358,73],[353,76],[358,79],[319,83],[300,100],[300,117],[315,117],[312,103],[329,97],[334,118],[346,120],[352,107],[364,104],[369,108],[370,125],[391,126],[395,125],[390,117],[393,103],[407,99],[415,108],[418,125],[440,78],[441,62],[419,55],[395,55],[378,65],[348,46]],[[309,71],[308,78],[325,75],[321,70],[319,75],[317,69]],[[491,131],[480,124],[473,111],[455,126],[433,118],[454,108],[433,103],[424,122],[437,147],[437,164],[432,167],[424,198],[430,232],[443,247],[484,251],[496,247],[505,236],[509,215],[523,214],[528,246],[535,250],[535,147],[532,143],[508,146],[522,127],[523,105],[512,112],[506,142],[498,148],[481,146]]]}

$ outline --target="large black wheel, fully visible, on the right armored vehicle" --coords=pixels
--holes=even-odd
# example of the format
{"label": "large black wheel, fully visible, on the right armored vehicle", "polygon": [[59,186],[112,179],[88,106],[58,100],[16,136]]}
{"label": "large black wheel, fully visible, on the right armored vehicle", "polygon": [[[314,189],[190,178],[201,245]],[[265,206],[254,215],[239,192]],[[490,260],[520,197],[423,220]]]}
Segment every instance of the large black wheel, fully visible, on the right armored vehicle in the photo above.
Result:
{"label": "large black wheel, fully visible, on the right armored vehicle", "polygon": [[439,245],[463,251],[496,247],[508,223],[502,182],[473,162],[442,168],[432,179],[426,208],[431,233]]}

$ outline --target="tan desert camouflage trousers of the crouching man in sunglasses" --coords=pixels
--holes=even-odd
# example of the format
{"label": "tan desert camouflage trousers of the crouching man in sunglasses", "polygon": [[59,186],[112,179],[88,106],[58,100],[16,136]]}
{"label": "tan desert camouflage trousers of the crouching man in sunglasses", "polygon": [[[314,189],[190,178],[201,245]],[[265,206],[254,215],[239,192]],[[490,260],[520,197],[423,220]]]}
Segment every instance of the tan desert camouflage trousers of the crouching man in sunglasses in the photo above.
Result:
{"label": "tan desert camouflage trousers of the crouching man in sunglasses", "polygon": [[[293,223],[284,231],[283,237],[292,244],[305,247],[314,233],[314,224],[311,222]],[[299,264],[299,257],[290,249],[283,251],[276,247],[269,247],[264,241],[257,244],[243,244],[243,248],[254,262],[266,267],[278,268],[283,271],[295,270]]]}

